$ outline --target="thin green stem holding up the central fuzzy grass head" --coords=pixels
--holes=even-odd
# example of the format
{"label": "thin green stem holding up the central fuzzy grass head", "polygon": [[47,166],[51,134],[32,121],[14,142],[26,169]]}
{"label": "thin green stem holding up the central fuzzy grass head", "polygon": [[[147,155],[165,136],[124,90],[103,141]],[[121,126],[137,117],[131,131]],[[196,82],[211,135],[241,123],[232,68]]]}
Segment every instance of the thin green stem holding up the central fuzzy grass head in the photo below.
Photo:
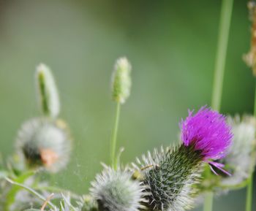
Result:
{"label": "thin green stem holding up the central fuzzy grass head", "polygon": [[115,169],[116,169],[116,137],[117,137],[117,131],[118,131],[119,117],[120,117],[120,107],[121,107],[121,104],[118,102],[116,104],[116,118],[115,118],[115,123],[114,123],[114,128],[113,128],[112,139],[111,139],[111,143],[110,143],[111,165]]}

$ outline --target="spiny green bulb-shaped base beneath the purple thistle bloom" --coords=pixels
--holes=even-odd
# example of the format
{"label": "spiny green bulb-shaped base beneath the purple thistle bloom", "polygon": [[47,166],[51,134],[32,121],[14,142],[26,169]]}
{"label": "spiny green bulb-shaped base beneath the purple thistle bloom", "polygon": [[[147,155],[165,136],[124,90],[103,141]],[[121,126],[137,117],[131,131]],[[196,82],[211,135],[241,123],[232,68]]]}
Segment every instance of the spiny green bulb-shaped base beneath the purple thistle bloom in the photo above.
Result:
{"label": "spiny green bulb-shaped base beneath the purple thistle bloom", "polygon": [[194,147],[163,148],[138,159],[135,168],[143,174],[143,183],[150,195],[146,207],[150,210],[180,211],[192,206],[203,161]]}

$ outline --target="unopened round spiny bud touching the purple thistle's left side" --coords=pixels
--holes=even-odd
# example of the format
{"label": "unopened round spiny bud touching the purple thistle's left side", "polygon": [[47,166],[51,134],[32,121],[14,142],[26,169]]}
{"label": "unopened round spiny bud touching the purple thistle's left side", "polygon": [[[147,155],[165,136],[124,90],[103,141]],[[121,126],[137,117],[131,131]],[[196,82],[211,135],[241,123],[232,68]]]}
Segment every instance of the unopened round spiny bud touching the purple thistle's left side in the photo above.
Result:
{"label": "unopened round spiny bud touching the purple thistle's left side", "polygon": [[91,195],[97,199],[99,211],[138,211],[142,208],[144,188],[132,180],[132,172],[105,166],[91,183]]}

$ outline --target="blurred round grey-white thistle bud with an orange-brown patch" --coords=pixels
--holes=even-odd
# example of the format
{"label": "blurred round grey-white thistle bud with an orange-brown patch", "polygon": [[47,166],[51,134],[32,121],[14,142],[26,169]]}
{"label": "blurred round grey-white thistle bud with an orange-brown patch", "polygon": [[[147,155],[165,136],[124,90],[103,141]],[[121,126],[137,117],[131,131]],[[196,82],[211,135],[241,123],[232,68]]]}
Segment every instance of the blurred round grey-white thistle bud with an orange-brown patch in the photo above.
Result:
{"label": "blurred round grey-white thistle bud with an orange-brown patch", "polygon": [[44,166],[57,172],[69,161],[70,139],[62,120],[34,118],[26,121],[18,132],[16,144],[29,166]]}

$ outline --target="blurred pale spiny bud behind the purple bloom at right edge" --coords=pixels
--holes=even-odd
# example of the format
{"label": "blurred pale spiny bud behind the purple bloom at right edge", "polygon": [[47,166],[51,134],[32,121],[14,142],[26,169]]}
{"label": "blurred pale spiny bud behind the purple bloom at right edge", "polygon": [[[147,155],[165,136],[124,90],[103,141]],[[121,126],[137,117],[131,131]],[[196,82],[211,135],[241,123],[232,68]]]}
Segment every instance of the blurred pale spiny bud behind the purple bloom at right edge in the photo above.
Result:
{"label": "blurred pale spiny bud behind the purple bloom at right edge", "polygon": [[238,185],[246,180],[255,168],[256,162],[256,119],[244,115],[228,117],[227,123],[233,131],[233,145],[222,160],[230,168],[232,177],[223,177],[222,185]]}

